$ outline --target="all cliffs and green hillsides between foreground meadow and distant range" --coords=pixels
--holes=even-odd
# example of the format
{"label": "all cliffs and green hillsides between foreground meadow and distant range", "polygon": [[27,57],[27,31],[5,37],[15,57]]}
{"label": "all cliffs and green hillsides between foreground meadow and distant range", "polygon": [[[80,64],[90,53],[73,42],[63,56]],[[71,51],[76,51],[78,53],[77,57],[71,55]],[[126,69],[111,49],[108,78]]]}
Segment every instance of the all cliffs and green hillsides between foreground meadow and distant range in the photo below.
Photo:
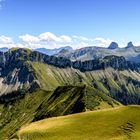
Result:
{"label": "all cliffs and green hillsides between foreground meadow and distant range", "polygon": [[1,139],[44,118],[140,104],[139,69],[118,56],[71,62],[28,49],[0,53]]}

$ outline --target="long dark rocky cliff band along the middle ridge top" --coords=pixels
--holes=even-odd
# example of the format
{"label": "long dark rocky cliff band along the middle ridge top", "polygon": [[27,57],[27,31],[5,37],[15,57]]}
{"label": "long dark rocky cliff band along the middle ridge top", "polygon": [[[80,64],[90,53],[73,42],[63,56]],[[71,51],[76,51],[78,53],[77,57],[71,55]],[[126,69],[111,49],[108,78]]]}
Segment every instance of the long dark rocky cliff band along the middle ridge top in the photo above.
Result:
{"label": "long dark rocky cliff band along the middle ridge top", "polygon": [[[70,61],[64,57],[48,56],[39,52],[32,52],[26,49],[17,49],[14,51],[9,51],[7,53],[1,54],[1,64],[4,64],[5,70],[3,70],[3,75],[7,75],[9,70],[20,69],[21,73],[26,75],[29,70],[25,66],[26,61],[42,62],[49,65],[53,65],[59,68],[73,67],[81,71],[91,71],[105,69],[107,67],[112,67],[114,69],[131,69],[139,70],[140,64],[126,61],[122,56],[106,56],[103,59],[89,60],[89,61]],[[25,76],[24,76],[25,77]],[[24,80],[21,80],[24,81]]]}

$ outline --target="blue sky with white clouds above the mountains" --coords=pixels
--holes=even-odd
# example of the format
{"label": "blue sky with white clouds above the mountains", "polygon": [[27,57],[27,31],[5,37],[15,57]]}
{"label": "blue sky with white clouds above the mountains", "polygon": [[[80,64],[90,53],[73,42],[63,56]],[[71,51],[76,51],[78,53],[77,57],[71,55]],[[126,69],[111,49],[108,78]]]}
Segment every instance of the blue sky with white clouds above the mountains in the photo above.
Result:
{"label": "blue sky with white clouds above the mountains", "polygon": [[140,44],[140,0],[0,0],[0,5],[0,47]]}

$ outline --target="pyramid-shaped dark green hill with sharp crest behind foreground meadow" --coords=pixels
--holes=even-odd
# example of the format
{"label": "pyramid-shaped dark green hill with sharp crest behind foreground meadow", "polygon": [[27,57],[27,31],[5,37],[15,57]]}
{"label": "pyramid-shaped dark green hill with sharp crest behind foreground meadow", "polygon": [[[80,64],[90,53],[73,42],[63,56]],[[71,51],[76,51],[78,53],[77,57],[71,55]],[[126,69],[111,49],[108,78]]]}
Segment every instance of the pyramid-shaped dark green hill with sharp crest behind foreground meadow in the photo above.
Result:
{"label": "pyramid-shaped dark green hill with sharp crest behind foreground meadow", "polygon": [[35,120],[121,105],[89,86],[58,87],[38,108]]}

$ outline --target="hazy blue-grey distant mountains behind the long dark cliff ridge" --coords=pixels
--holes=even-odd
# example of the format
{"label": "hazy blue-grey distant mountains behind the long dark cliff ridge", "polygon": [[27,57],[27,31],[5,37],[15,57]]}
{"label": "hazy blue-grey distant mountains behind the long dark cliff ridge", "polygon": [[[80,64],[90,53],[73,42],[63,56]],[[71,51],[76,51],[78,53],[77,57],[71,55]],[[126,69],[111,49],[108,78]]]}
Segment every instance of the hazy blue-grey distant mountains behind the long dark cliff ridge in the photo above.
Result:
{"label": "hazy blue-grey distant mountains behind the long dark cliff ridge", "polygon": [[[1,52],[7,52],[8,48],[0,48]],[[140,46],[134,46],[132,42],[129,42],[126,47],[120,48],[116,42],[112,42],[107,48],[98,46],[83,47],[81,49],[74,50],[70,46],[47,49],[37,48],[33,51],[37,51],[46,55],[54,55],[57,57],[65,57],[71,61],[87,61],[104,58],[105,56],[115,55],[124,56],[126,60],[133,62],[140,62]]]}

